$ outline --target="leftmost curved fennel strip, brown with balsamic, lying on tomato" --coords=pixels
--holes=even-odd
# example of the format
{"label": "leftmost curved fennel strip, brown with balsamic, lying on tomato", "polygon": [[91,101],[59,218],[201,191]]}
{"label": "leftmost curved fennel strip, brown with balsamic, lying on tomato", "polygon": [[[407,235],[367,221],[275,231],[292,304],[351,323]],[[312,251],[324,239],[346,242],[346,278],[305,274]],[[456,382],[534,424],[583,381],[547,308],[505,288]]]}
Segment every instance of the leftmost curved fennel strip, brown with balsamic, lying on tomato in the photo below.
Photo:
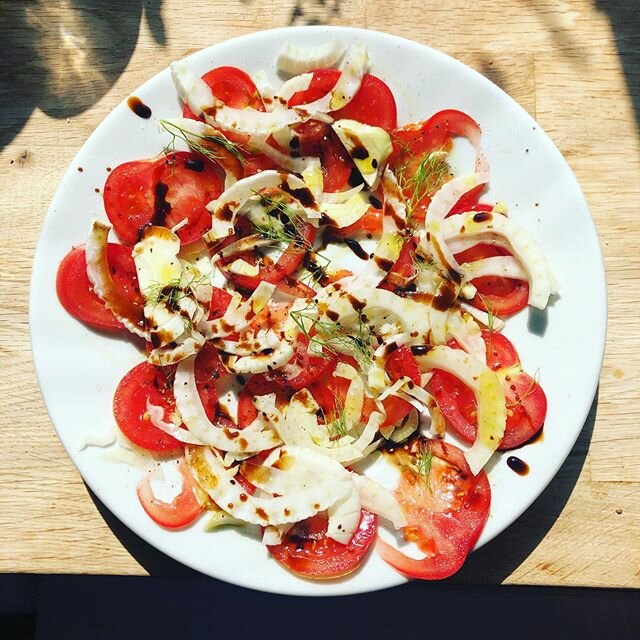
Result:
{"label": "leftmost curved fennel strip, brown with balsamic, lying on tomato", "polygon": [[87,260],[87,277],[93,286],[95,294],[102,300],[116,317],[131,333],[149,339],[145,329],[143,310],[134,305],[116,286],[107,260],[107,238],[111,227],[108,224],[94,220],[91,232],[85,245]]}

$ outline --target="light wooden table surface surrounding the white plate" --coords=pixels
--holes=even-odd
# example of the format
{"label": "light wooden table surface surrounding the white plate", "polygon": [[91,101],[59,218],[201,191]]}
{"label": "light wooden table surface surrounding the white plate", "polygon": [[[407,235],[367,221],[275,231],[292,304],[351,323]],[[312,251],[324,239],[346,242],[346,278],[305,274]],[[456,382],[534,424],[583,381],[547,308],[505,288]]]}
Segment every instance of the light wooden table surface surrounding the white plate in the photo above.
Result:
{"label": "light wooden table surface surrounding the white plate", "polygon": [[172,60],[239,34],[326,23],[423,42],[504,88],[564,154],[601,238],[609,327],[587,423],[542,496],[454,580],[640,587],[637,0],[86,0],[73,7],[43,0],[1,7],[0,571],[187,572],[94,502],[57,440],[29,342],[40,225],[96,125]]}

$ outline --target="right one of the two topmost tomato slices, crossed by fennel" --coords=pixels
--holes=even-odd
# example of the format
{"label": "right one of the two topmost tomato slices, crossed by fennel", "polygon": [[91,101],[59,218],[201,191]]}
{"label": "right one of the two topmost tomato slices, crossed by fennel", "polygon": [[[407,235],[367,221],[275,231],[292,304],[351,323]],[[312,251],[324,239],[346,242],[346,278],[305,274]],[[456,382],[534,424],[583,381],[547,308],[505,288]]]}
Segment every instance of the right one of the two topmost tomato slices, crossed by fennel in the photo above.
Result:
{"label": "right one of the two topmost tomato slices, crossed by fennel", "polygon": [[[289,106],[308,104],[322,98],[333,89],[339,77],[338,69],[314,71],[308,89],[294,93]],[[398,121],[396,101],[391,89],[380,78],[369,73],[362,79],[362,85],[353,100],[346,107],[331,112],[331,116],[336,120],[358,120],[388,130],[394,129]]]}

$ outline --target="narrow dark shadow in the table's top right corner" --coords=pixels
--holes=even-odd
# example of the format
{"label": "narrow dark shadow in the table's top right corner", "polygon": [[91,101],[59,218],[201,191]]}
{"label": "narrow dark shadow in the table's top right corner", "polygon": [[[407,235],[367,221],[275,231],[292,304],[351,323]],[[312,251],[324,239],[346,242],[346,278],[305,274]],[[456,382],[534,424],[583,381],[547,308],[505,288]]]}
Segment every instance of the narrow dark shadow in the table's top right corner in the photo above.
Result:
{"label": "narrow dark shadow in the table's top right corner", "polygon": [[596,0],[595,6],[609,18],[640,127],[640,5],[638,0]]}

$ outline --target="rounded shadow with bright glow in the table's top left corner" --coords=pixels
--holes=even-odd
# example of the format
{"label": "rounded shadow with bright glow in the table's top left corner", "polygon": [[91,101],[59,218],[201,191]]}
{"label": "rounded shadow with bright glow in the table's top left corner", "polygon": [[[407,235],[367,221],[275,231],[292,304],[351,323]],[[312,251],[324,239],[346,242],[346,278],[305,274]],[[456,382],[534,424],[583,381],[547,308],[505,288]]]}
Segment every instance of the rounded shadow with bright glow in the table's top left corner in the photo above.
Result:
{"label": "rounded shadow with bright glow in the table's top left corner", "polygon": [[69,118],[93,106],[126,68],[144,15],[165,43],[162,0],[0,0],[0,149],[38,107]]}

